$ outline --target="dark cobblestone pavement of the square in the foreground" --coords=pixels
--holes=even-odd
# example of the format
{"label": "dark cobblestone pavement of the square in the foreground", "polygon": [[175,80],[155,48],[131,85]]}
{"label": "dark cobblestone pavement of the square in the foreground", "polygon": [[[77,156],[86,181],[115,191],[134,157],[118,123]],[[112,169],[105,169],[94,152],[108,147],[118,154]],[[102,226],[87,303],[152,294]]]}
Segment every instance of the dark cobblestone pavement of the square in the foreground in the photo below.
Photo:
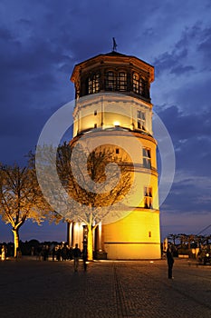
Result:
{"label": "dark cobblestone pavement of the square in the foreground", "polygon": [[0,262],[1,318],[211,317],[211,266],[165,260]]}

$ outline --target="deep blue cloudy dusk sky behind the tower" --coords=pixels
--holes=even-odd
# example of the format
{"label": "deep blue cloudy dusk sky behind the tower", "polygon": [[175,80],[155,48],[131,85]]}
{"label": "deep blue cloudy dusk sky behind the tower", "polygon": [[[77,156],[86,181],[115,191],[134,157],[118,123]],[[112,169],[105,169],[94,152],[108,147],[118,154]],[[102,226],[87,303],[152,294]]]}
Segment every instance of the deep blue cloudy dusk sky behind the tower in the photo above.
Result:
{"label": "deep blue cloudy dusk sky behind the tower", "polygon": [[[198,234],[211,224],[209,0],[1,0],[0,162],[24,164],[45,122],[74,98],[73,66],[109,53],[112,37],[118,52],[155,66],[151,102],[176,154],[161,237]],[[28,222],[20,239],[32,238],[65,241],[66,225]],[[0,242],[12,240],[0,221]]]}

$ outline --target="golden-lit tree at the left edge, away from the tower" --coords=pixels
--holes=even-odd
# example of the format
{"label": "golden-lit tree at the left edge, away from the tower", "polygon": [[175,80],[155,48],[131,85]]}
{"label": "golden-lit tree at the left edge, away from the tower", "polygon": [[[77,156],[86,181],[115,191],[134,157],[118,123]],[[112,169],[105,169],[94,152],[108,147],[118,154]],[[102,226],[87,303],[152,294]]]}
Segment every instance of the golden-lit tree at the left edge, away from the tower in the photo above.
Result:
{"label": "golden-lit tree at the left edge, away from the tower", "polygon": [[12,225],[14,257],[19,248],[19,230],[27,219],[41,224],[49,213],[49,205],[37,183],[33,168],[0,164],[0,214]]}

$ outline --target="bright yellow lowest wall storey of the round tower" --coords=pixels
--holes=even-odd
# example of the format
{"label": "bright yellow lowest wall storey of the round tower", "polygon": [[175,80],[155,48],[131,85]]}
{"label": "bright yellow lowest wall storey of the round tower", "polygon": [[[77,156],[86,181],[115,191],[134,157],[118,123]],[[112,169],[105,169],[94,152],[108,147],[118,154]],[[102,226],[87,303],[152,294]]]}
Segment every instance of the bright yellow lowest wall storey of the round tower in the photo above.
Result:
{"label": "bright yellow lowest wall storey of the round tower", "polygon": [[159,259],[158,211],[136,209],[118,222],[103,225],[101,241],[109,259]]}

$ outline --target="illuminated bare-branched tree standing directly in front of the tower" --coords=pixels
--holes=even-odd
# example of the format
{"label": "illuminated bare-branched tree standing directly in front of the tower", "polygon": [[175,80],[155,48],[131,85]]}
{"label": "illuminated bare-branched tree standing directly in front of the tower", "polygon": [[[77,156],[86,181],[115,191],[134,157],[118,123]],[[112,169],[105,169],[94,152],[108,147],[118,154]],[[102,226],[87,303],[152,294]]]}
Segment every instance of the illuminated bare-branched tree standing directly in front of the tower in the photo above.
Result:
{"label": "illuminated bare-branched tree standing directly in front of the tower", "polygon": [[62,144],[56,158],[61,182],[58,184],[53,174],[54,159],[53,147],[37,150],[38,179],[42,180],[44,195],[58,213],[62,211],[65,220],[87,226],[88,259],[92,260],[93,232],[109,214],[122,213],[117,211],[116,204],[121,204],[129,193],[133,165],[125,165],[122,156],[114,155],[111,145],[99,146],[90,153],[82,144]]}

